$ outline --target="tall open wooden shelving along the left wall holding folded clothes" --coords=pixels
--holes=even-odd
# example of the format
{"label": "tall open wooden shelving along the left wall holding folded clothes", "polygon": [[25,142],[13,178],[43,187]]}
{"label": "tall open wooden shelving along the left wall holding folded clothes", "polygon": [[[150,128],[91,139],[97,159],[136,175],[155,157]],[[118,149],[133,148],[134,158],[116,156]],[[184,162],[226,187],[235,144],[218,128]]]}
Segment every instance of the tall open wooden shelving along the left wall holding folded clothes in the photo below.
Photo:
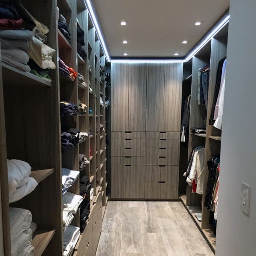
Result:
{"label": "tall open wooden shelving along the left wall holding folded clothes", "polygon": [[[79,154],[84,154],[90,164],[81,174],[90,178],[94,196],[87,225],[76,244],[74,255],[92,256],[96,253],[102,228],[102,209],[108,201],[105,193],[102,193],[106,186],[105,83],[100,82],[100,75],[105,74],[99,65],[99,61],[105,65],[105,55],[84,0],[49,0],[44,2],[43,9],[40,4],[28,0],[22,3],[49,28],[47,45],[56,50],[53,61],[57,68],[51,70],[52,82],[49,82],[0,62],[0,186],[4,255],[11,256],[7,158],[29,163],[32,166],[30,177],[38,182],[32,193],[10,204],[10,207],[28,209],[32,213],[32,221],[38,227],[32,240],[35,256],[62,256],[61,168],[79,170]],[[67,19],[71,44],[56,26],[56,6]],[[77,26],[84,30],[84,59],[77,53]],[[87,86],[79,85],[77,80],[71,82],[63,79],[58,70],[58,57],[81,73]],[[89,91],[89,80],[93,92]],[[99,104],[100,97],[104,102],[103,107]],[[60,117],[60,100],[78,104],[78,99],[87,105],[87,113],[63,120]],[[92,115],[89,115],[89,108],[93,111]],[[88,134],[91,130],[92,135],[72,150],[62,153],[60,145],[63,124]],[[96,151],[99,154],[96,155]],[[69,192],[79,195],[79,178]],[[79,212],[71,224],[80,227]]]}

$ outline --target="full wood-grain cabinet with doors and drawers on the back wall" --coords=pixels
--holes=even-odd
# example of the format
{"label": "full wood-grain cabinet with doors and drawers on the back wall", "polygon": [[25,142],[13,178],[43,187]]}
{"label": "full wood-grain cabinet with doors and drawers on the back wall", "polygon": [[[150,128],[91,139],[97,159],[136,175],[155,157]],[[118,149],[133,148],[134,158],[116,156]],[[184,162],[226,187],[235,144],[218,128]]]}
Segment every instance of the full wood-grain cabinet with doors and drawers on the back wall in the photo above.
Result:
{"label": "full wood-grain cabinet with doors and drawers on the back wall", "polygon": [[112,198],[178,198],[183,64],[111,64]]}

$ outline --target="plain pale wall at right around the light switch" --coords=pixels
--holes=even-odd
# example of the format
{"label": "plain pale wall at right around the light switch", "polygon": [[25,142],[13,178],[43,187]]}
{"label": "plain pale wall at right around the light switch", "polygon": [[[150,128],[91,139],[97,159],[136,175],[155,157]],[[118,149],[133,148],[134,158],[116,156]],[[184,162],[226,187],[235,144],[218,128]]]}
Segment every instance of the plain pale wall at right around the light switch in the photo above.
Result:
{"label": "plain pale wall at right around the light switch", "polygon": [[[230,0],[217,256],[256,255],[256,0]],[[251,186],[250,216],[241,183]]]}

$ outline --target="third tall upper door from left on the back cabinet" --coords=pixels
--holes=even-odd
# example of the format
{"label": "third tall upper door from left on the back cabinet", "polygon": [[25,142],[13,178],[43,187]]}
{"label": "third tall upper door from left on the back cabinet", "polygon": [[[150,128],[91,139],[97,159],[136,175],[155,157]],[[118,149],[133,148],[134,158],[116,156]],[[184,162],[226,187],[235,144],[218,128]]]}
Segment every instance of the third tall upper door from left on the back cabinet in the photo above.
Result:
{"label": "third tall upper door from left on the back cabinet", "polygon": [[165,64],[148,64],[146,131],[163,131]]}

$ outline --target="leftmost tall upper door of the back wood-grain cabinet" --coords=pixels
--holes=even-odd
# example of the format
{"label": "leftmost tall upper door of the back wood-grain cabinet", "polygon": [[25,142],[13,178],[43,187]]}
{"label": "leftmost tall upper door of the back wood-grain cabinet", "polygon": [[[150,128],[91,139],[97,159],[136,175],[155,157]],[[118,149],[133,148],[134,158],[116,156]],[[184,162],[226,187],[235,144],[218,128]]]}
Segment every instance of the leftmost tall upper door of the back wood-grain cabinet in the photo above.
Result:
{"label": "leftmost tall upper door of the back wood-grain cabinet", "polygon": [[111,130],[129,131],[129,64],[111,64]]}

